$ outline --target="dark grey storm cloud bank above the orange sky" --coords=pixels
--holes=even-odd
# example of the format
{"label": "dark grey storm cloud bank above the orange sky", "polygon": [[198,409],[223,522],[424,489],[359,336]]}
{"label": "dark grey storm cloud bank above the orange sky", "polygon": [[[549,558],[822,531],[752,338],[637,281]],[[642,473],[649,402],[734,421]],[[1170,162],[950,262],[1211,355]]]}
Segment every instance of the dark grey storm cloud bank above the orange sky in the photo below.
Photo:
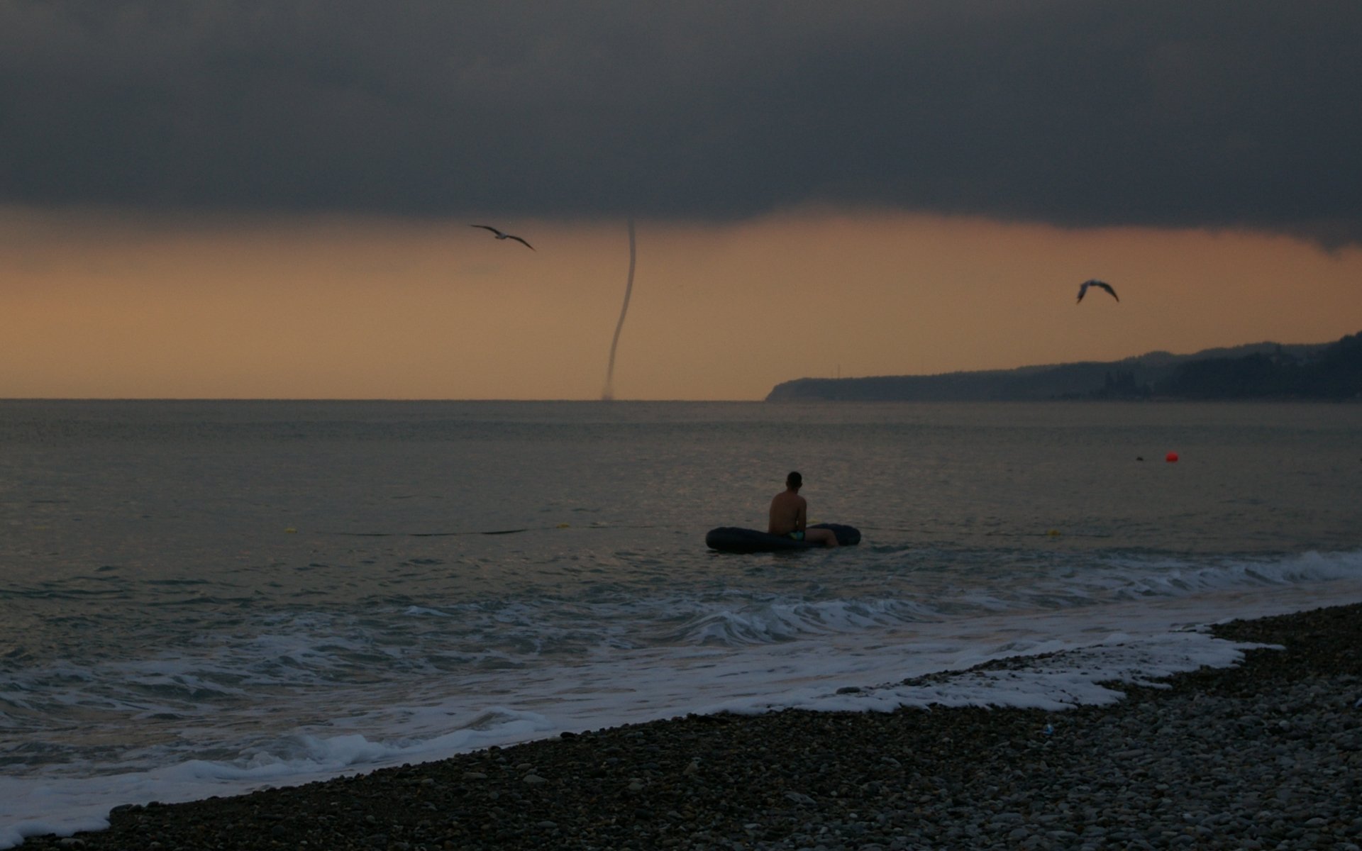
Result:
{"label": "dark grey storm cloud bank above the orange sky", "polygon": [[0,202],[1362,241],[1362,4],[0,4]]}

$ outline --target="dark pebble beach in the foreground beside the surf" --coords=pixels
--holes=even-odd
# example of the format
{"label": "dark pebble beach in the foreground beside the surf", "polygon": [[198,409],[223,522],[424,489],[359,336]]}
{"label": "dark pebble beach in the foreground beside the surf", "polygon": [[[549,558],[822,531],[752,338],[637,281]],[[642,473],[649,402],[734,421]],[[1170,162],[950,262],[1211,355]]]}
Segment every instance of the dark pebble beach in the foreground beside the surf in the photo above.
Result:
{"label": "dark pebble beach in the foreground beside the surf", "polygon": [[689,715],[123,806],[18,847],[1362,847],[1362,605],[1211,632],[1282,649],[1100,707]]}

